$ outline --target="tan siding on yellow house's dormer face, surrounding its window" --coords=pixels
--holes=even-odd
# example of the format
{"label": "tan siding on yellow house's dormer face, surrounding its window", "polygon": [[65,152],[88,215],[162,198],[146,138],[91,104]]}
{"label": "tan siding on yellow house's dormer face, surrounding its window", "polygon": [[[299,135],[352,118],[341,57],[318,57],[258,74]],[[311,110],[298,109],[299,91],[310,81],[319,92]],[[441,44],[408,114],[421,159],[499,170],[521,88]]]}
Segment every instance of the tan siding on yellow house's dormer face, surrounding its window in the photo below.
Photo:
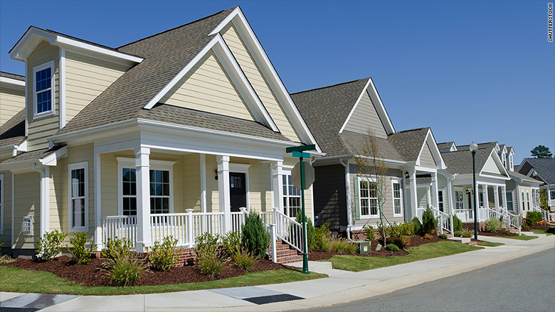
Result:
{"label": "tan siding on yellow house's dormer face, surrounding its window", "polygon": [[[27,58],[27,72],[26,75],[29,77],[27,84],[27,96],[28,96],[28,138],[27,146],[29,150],[33,149],[43,149],[48,147],[48,141],[46,138],[58,131],[60,125],[59,117],[59,50],[58,47],[49,45],[46,41],[40,43],[37,48],[29,55]],[[33,119],[33,103],[35,95],[33,93],[34,77],[33,77],[33,67],[48,63],[54,60],[54,114],[41,117],[38,119]]]}

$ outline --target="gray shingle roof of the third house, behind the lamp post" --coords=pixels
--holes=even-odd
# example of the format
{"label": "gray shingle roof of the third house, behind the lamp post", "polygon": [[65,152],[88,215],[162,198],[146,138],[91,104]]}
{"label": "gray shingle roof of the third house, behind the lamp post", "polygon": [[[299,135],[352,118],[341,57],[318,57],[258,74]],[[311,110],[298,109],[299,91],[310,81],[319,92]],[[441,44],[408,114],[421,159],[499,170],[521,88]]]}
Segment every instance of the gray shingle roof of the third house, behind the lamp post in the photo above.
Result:
{"label": "gray shingle roof of the third house, behind the lamp post", "polygon": [[[477,173],[484,168],[487,158],[490,156],[494,146],[495,142],[490,144],[478,144],[478,150],[476,151]],[[470,149],[442,151],[441,156],[443,157],[443,161],[445,161],[445,165],[447,165],[446,171],[448,173],[472,173],[472,153],[470,153]]]}

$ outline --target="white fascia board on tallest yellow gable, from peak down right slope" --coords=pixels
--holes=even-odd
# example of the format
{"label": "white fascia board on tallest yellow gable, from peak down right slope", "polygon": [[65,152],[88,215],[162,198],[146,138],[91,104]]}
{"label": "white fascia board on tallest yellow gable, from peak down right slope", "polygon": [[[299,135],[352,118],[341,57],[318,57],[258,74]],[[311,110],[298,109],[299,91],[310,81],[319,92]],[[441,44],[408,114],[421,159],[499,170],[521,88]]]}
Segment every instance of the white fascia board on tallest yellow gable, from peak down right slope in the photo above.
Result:
{"label": "white fascia board on tallest yellow gable, from peak down right slope", "polygon": [[260,45],[260,41],[256,38],[253,29],[250,27],[250,24],[240,8],[237,7],[234,9],[231,14],[229,14],[218,26],[216,26],[210,34],[213,35],[219,33],[223,27],[230,22],[236,27],[238,35],[247,46],[250,55],[253,56],[256,65],[258,65],[260,72],[263,77],[265,77],[268,85],[270,85],[270,89],[273,91],[275,97],[277,97],[277,102],[280,102],[285,115],[292,123],[292,126],[297,131],[297,134],[299,134],[302,141],[308,144],[314,144],[317,152],[322,153],[322,149],[320,149],[316,139],[314,139],[310,129],[308,129],[305,120],[302,119],[302,116],[291,99],[289,92],[285,89],[285,85],[283,85],[280,76],[277,75],[277,72],[270,62],[268,55],[266,55],[262,45]]}

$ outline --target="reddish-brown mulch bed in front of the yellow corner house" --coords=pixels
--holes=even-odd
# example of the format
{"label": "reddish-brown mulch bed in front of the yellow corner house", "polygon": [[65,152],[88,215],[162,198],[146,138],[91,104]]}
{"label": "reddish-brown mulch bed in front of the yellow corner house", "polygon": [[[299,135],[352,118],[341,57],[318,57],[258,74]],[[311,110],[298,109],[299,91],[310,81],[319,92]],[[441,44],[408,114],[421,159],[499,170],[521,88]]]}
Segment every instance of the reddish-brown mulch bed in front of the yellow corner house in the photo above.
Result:
{"label": "reddish-brown mulch bed in front of the yellow corner house", "polygon": [[[69,279],[83,286],[113,286],[110,284],[105,271],[100,267],[105,259],[91,259],[90,264],[72,264],[68,256],[57,257],[49,262],[38,259],[16,259],[16,262],[3,264],[6,267],[16,267],[33,271],[47,271],[56,276]],[[297,269],[282,264],[271,262],[268,259],[258,260],[250,272],[268,271],[275,269]],[[214,281],[227,279],[229,277],[245,274],[243,269],[237,267],[234,262],[226,262],[224,269],[218,276],[211,277],[201,274],[198,265],[187,265],[184,267],[174,267],[170,271],[145,271],[139,283],[135,286],[151,286],[165,284],[189,284],[201,281]]]}

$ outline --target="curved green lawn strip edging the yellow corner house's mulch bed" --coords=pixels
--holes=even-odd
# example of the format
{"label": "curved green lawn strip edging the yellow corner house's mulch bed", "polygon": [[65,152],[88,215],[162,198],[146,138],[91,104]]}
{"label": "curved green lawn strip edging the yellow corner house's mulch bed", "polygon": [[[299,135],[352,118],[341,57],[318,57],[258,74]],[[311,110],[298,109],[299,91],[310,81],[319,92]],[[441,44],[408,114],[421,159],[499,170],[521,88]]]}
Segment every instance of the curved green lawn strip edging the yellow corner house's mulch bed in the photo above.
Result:
{"label": "curved green lawn strip edging the yellow corner house's mulch bed", "polygon": [[75,284],[73,281],[62,279],[45,271],[29,271],[10,267],[0,267],[0,291],[70,295],[152,294],[165,293],[169,291],[191,291],[198,289],[277,284],[287,283],[290,281],[305,281],[307,279],[320,279],[322,277],[327,277],[327,275],[318,273],[302,274],[301,271],[278,269],[273,271],[247,273],[242,276],[231,277],[229,279],[205,281],[194,284],[131,287],[87,287]]}

